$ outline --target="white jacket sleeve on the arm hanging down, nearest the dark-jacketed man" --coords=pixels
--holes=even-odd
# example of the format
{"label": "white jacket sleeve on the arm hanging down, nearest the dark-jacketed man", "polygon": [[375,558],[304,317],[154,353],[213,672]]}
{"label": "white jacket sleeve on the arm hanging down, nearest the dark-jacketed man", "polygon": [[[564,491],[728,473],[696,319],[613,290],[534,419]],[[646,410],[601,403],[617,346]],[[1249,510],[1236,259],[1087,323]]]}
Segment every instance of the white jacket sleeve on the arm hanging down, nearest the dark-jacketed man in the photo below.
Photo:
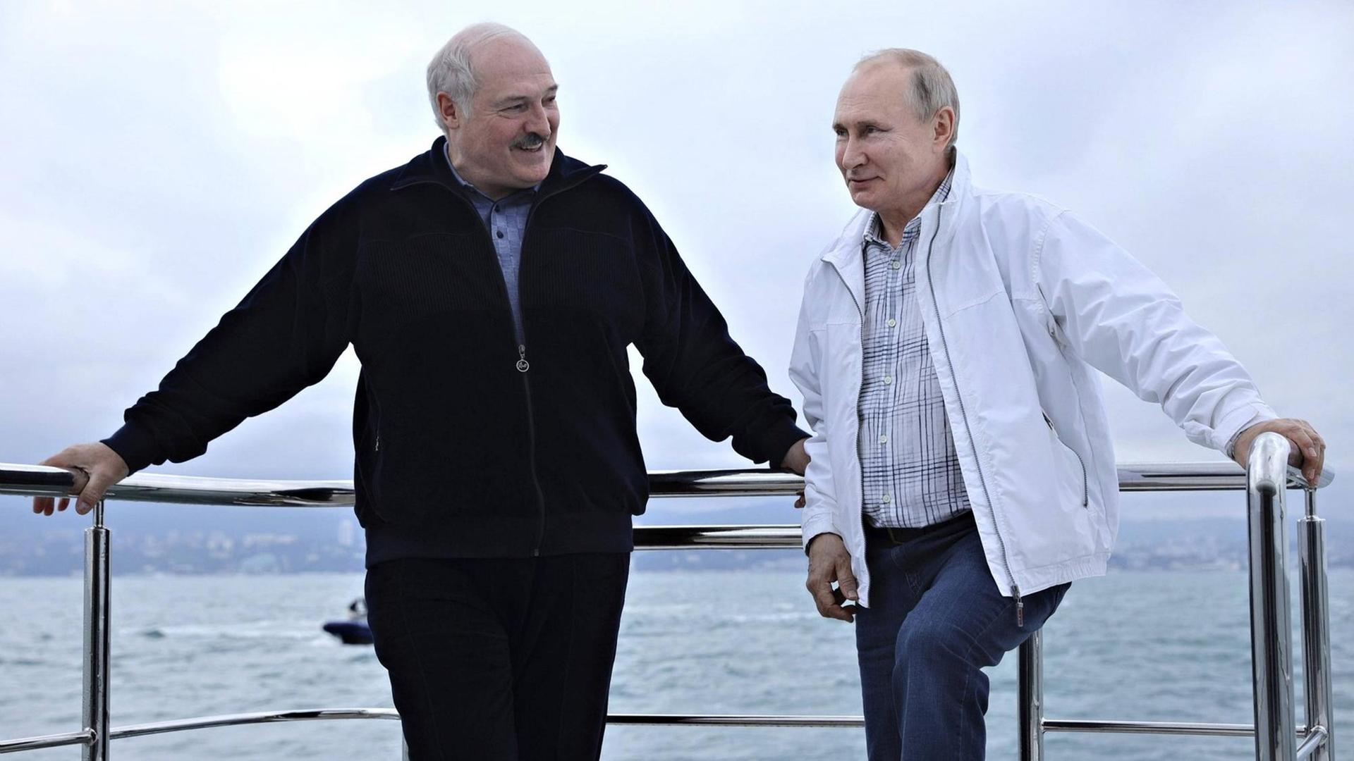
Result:
{"label": "white jacket sleeve on the arm hanging down, nearest the dark-jacketed man", "polygon": [[833,489],[833,471],[827,459],[827,420],[823,414],[823,389],[818,382],[822,353],[818,341],[810,330],[808,284],[812,272],[804,282],[804,298],[799,306],[799,324],[795,328],[795,348],[789,355],[789,379],[804,397],[804,422],[814,435],[804,443],[808,452],[808,470],[804,473],[804,509],[800,515],[804,550],[819,534],[841,534],[833,523],[837,508],[837,492]]}

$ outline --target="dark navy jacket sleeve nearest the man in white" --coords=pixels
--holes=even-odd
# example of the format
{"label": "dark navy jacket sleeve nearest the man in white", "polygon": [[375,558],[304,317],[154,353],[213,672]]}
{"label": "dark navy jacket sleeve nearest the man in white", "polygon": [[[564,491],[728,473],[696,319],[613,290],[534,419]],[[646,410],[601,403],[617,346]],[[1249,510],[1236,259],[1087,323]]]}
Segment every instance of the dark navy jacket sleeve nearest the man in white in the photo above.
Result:
{"label": "dark navy jacket sleeve nearest the man in white", "polygon": [[668,406],[677,408],[712,441],[733,436],[734,451],[780,467],[804,433],[789,399],[772,393],[766,372],[728,336],[728,325],[676,246],[651,217],[642,256],[645,326],[635,347],[645,375]]}

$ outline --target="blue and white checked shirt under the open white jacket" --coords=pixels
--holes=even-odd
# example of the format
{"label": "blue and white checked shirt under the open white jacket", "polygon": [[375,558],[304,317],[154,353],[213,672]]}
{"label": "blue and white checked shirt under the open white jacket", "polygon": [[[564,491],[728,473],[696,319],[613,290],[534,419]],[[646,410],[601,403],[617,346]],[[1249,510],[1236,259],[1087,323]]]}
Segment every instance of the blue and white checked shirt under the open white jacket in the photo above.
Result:
{"label": "blue and white checked shirt under the open white jacket", "polygon": [[[927,206],[949,195],[952,176]],[[876,214],[861,244],[865,324],[856,447],[865,517],[877,527],[930,525],[969,509],[917,305],[919,233],[921,215],[903,227],[898,248],[891,248]]]}

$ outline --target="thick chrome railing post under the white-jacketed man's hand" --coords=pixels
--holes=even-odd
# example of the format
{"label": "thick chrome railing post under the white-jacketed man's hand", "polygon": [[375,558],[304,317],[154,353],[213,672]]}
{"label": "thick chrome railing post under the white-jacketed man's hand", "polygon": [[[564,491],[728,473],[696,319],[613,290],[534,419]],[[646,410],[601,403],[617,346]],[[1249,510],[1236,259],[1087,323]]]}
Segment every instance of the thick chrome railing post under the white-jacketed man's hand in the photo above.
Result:
{"label": "thick chrome railing post under the white-jacketed man's hand", "polygon": [[1284,492],[1289,441],[1261,433],[1251,443],[1246,475],[1250,513],[1251,677],[1255,682],[1255,757],[1292,761],[1297,754],[1293,715],[1293,643],[1289,632],[1288,536]]}

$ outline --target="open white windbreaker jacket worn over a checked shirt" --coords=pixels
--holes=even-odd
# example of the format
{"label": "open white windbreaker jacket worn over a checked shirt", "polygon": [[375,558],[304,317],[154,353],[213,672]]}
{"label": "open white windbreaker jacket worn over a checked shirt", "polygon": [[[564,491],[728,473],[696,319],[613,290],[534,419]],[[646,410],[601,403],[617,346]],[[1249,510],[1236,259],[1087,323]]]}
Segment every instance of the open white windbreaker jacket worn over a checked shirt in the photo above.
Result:
{"label": "open white windbreaker jacket worn over a checked shirt", "polygon": [[[814,261],[789,375],[814,429],[804,547],[833,532],[860,604],[869,570],[856,450],[861,386],[860,211]],[[917,299],[968,500],[1002,594],[1102,575],[1118,532],[1118,474],[1098,368],[1158,402],[1192,441],[1225,450],[1274,412],[1221,341],[1099,232],[1043,199],[969,184],[922,213]]]}

